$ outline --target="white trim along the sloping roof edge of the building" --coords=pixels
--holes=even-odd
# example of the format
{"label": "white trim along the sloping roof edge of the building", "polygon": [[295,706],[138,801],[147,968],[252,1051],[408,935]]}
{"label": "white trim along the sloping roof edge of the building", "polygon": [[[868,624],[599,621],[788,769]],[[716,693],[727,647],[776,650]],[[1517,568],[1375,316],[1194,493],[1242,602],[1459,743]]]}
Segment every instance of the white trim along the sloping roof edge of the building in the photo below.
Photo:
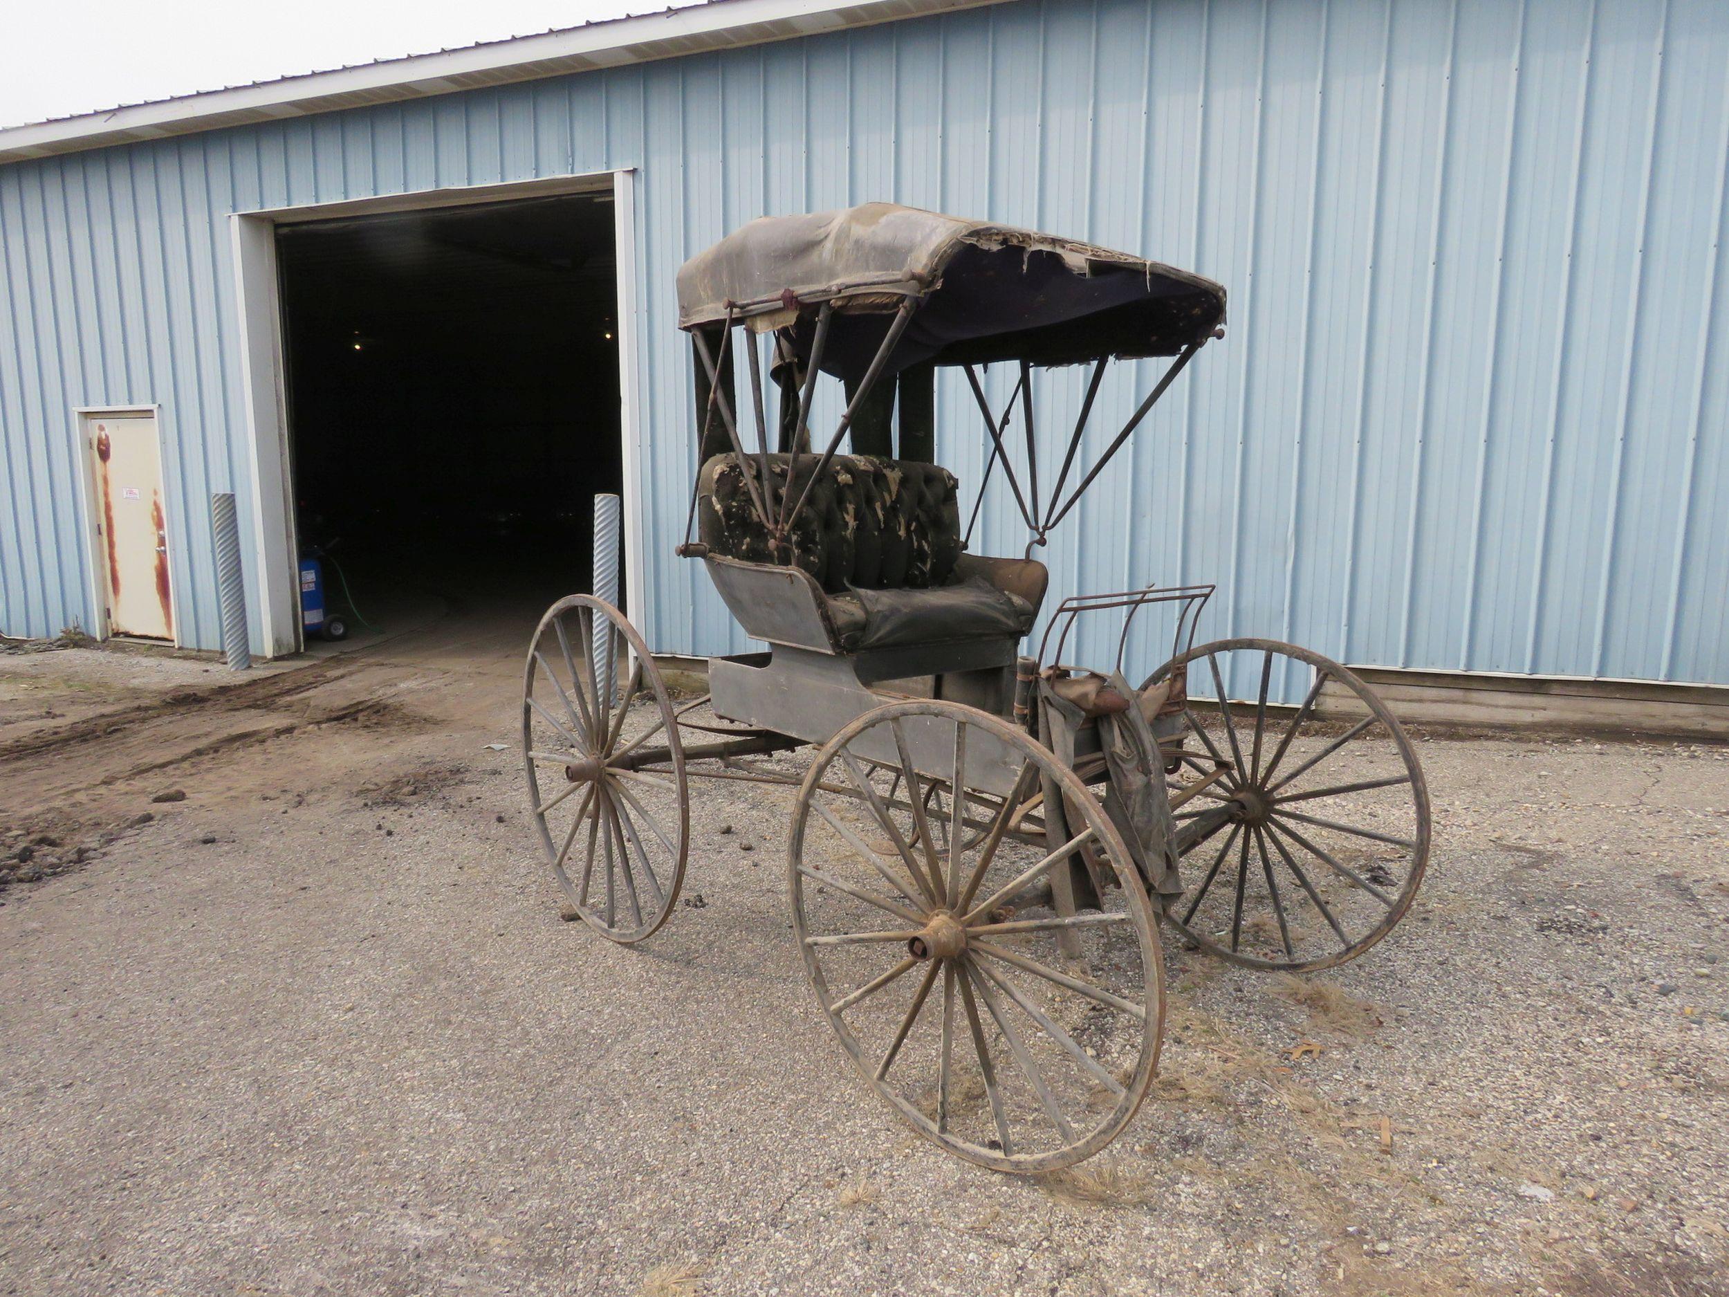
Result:
{"label": "white trim along the sloping roof edge of the building", "polygon": [[766,45],[992,3],[1003,0],[858,0],[845,5],[832,0],[711,0],[534,36],[7,126],[0,128],[0,163]]}

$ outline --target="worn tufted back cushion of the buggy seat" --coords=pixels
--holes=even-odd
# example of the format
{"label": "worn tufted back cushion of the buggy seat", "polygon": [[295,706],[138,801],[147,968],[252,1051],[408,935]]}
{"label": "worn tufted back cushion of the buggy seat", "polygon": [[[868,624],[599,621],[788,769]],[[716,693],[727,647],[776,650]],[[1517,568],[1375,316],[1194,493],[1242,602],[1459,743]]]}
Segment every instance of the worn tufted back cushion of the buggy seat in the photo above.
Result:
{"label": "worn tufted back cushion of the buggy seat", "polygon": [[[804,493],[816,455],[769,455],[773,500]],[[716,455],[702,465],[697,527],[712,553],[773,564],[769,533],[757,515],[756,455]],[[790,488],[788,488],[790,481]],[[835,455],[794,519],[792,560],[828,593],[925,590],[947,585],[961,553],[954,474],[935,463]]]}

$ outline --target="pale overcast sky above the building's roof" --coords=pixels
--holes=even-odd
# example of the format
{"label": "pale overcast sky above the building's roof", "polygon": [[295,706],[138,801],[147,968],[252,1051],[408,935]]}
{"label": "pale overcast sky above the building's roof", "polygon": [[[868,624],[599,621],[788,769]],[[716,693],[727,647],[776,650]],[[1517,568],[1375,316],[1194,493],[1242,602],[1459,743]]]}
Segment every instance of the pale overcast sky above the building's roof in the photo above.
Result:
{"label": "pale overcast sky above the building's roof", "polygon": [[0,126],[690,0],[0,0]]}

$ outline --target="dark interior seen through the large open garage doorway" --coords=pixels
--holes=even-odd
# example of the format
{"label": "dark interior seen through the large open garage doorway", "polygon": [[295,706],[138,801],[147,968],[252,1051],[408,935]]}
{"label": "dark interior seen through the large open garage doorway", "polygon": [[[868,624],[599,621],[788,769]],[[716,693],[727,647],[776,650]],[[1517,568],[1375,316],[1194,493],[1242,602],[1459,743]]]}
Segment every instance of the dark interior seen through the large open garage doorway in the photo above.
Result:
{"label": "dark interior seen through the large open garage doorway", "polygon": [[327,602],[356,631],[439,607],[514,628],[588,590],[593,496],[621,484],[610,197],[277,240],[296,522]]}

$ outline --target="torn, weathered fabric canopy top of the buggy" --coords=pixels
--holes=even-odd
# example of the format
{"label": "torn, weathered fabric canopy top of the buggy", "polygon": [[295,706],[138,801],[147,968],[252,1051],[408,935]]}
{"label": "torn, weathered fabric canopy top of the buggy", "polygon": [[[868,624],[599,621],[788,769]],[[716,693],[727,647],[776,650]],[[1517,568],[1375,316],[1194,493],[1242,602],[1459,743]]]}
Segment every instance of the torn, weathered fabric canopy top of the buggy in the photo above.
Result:
{"label": "torn, weathered fabric canopy top of the buggy", "polygon": [[833,303],[823,372],[856,382],[916,303],[885,372],[911,365],[1174,356],[1224,323],[1224,287],[1074,239],[890,202],[764,216],[678,272],[681,329],[787,329],[802,363]]}

